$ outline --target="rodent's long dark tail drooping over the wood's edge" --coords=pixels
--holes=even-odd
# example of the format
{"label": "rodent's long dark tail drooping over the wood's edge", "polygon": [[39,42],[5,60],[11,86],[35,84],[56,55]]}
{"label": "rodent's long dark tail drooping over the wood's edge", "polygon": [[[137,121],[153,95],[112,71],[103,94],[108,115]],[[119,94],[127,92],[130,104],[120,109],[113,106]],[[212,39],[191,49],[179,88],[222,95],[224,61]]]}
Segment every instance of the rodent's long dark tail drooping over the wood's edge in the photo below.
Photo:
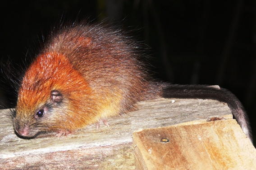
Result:
{"label": "rodent's long dark tail drooping over the wood's edge", "polygon": [[242,103],[238,98],[227,89],[218,86],[207,85],[179,85],[165,84],[163,85],[162,97],[164,98],[190,98],[190,99],[213,99],[228,104],[234,118],[242,127],[243,132],[252,142],[251,128],[249,119]]}

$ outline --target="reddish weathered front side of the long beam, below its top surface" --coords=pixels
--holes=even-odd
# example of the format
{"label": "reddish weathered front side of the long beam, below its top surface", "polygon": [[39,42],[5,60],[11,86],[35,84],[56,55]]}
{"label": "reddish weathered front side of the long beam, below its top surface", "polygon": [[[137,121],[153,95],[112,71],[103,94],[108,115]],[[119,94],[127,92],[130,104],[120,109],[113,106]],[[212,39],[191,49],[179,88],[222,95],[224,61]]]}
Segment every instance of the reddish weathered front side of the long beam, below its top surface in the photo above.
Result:
{"label": "reddish weathered front side of the long beam, below its top surface", "polygon": [[132,143],[0,159],[1,170],[135,170]]}

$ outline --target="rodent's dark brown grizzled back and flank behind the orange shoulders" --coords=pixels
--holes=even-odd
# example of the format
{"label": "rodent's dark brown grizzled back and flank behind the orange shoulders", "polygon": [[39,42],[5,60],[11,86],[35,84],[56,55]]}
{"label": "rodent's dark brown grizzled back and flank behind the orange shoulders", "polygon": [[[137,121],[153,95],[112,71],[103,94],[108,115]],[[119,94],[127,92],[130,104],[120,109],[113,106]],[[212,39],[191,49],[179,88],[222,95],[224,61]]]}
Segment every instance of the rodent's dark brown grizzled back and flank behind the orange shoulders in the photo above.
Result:
{"label": "rodent's dark brown grizzled back and flank behind the orange shoulders", "polygon": [[153,96],[148,92],[152,84],[138,60],[135,42],[119,31],[99,25],[63,28],[43,52],[67,57],[99,102],[119,103],[120,111],[115,114],[127,112],[135,102]]}

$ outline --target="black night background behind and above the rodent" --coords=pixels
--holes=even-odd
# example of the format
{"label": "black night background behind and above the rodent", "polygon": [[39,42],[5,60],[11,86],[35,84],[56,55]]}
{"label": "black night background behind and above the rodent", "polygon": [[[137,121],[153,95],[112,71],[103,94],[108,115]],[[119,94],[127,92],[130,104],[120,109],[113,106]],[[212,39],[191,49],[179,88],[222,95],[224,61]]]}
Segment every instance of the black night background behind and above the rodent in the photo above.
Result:
{"label": "black night background behind and above the rodent", "polygon": [[[16,70],[23,69],[25,59],[39,48],[42,35],[47,36],[60,21],[84,18],[114,22],[148,45],[157,79],[229,89],[242,101],[256,131],[256,1],[0,1],[1,63],[6,66],[11,61]],[[14,74],[19,75],[18,71]],[[6,73],[0,76],[0,105],[14,107],[15,90]]]}

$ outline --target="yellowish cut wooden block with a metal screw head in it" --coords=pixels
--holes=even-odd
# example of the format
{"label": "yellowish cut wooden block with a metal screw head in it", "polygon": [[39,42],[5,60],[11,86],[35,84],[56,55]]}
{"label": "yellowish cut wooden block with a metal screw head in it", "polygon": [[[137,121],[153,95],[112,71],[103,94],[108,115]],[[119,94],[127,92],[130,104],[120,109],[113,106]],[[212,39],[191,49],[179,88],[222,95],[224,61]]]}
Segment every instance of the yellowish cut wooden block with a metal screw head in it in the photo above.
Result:
{"label": "yellowish cut wooden block with a metal screw head in it", "polygon": [[256,170],[256,149],[234,119],[135,131],[133,147],[137,170]]}

